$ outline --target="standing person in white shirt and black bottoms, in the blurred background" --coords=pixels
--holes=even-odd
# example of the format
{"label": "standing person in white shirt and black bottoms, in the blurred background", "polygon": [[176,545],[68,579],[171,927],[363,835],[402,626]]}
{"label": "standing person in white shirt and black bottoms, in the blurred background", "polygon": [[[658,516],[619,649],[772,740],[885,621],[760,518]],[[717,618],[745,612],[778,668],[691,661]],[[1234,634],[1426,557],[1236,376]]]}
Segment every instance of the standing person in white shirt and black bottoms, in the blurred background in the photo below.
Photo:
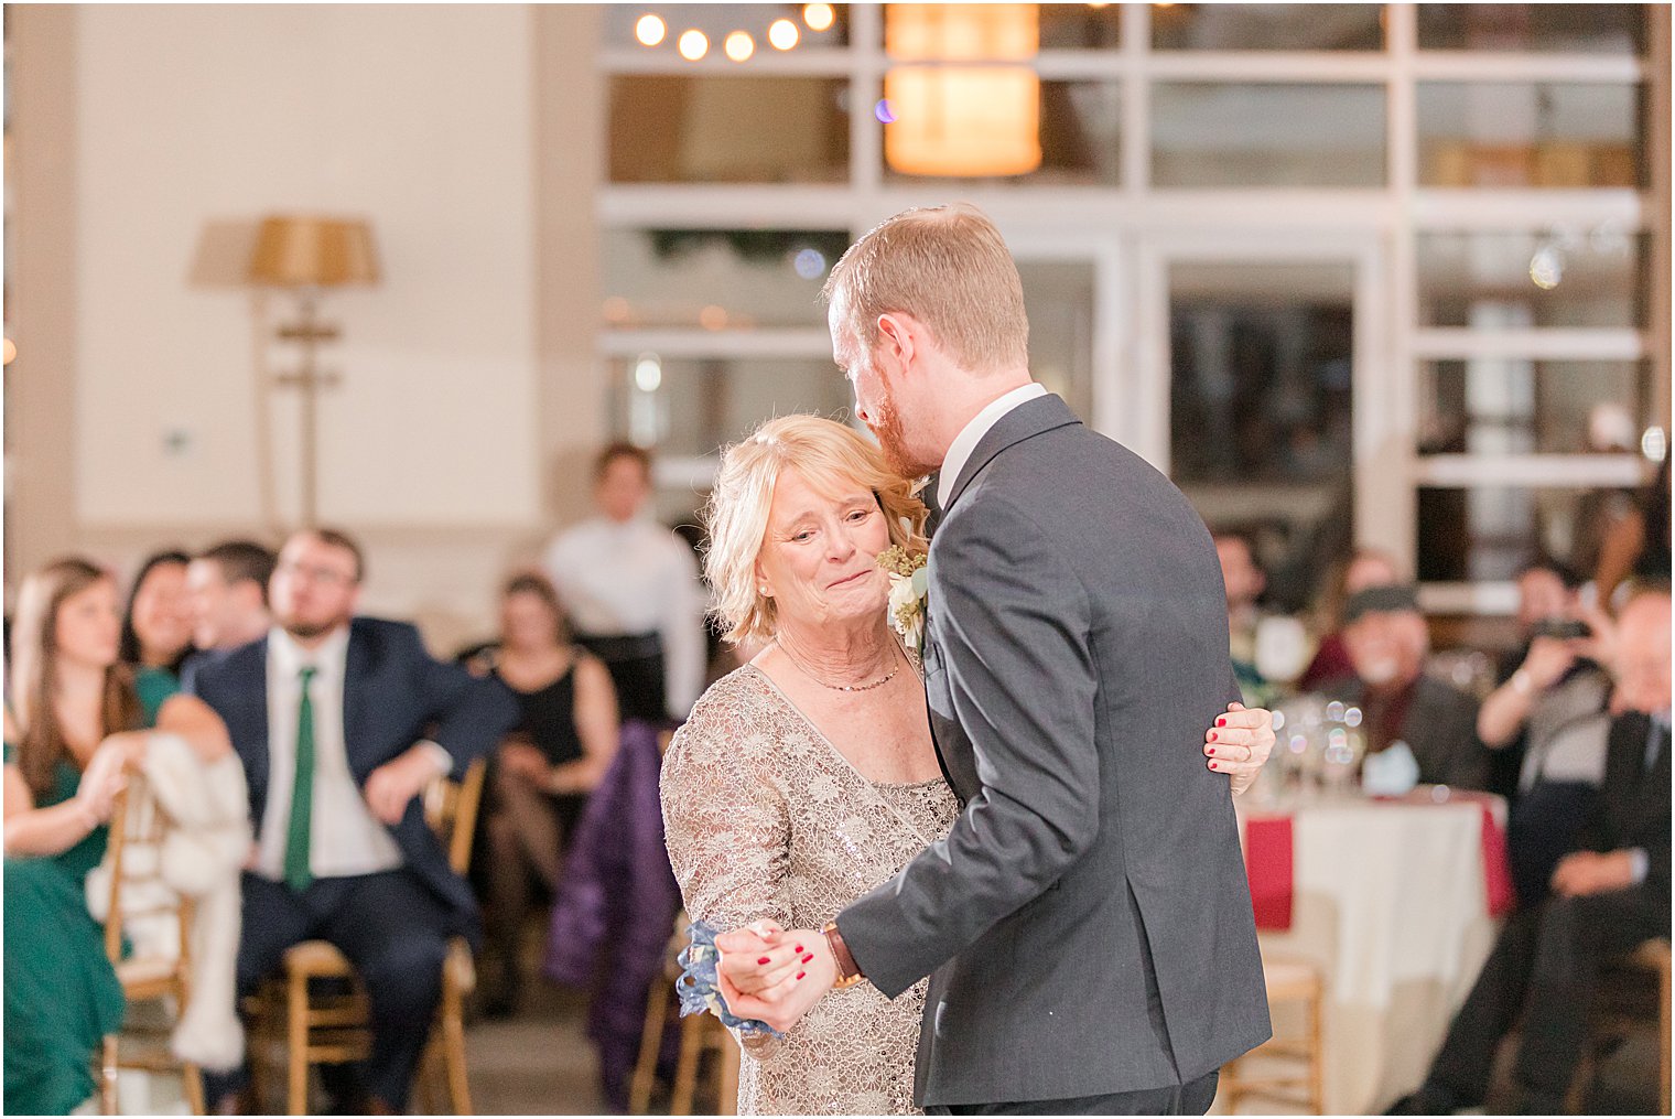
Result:
{"label": "standing person in white shirt and black bottoms, in the blurred background", "polygon": [[611,670],[621,717],[683,720],[704,690],[704,583],[680,536],[645,516],[652,457],[633,444],[595,464],[600,516],[559,533],[543,566],[576,640]]}

